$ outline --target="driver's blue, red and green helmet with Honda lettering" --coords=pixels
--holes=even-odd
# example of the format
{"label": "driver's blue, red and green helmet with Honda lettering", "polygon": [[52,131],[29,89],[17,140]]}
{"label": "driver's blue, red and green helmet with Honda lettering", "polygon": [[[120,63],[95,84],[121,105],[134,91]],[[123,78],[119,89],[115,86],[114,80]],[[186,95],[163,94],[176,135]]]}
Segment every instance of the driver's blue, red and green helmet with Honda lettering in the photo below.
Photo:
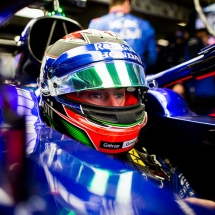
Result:
{"label": "driver's blue, red and green helmet with Honda lettering", "polygon": [[[98,151],[129,151],[147,122],[142,62],[113,32],[86,29],[55,42],[45,52],[38,85],[44,121]],[[78,96],[108,88],[126,89],[124,106],[95,105]]]}

